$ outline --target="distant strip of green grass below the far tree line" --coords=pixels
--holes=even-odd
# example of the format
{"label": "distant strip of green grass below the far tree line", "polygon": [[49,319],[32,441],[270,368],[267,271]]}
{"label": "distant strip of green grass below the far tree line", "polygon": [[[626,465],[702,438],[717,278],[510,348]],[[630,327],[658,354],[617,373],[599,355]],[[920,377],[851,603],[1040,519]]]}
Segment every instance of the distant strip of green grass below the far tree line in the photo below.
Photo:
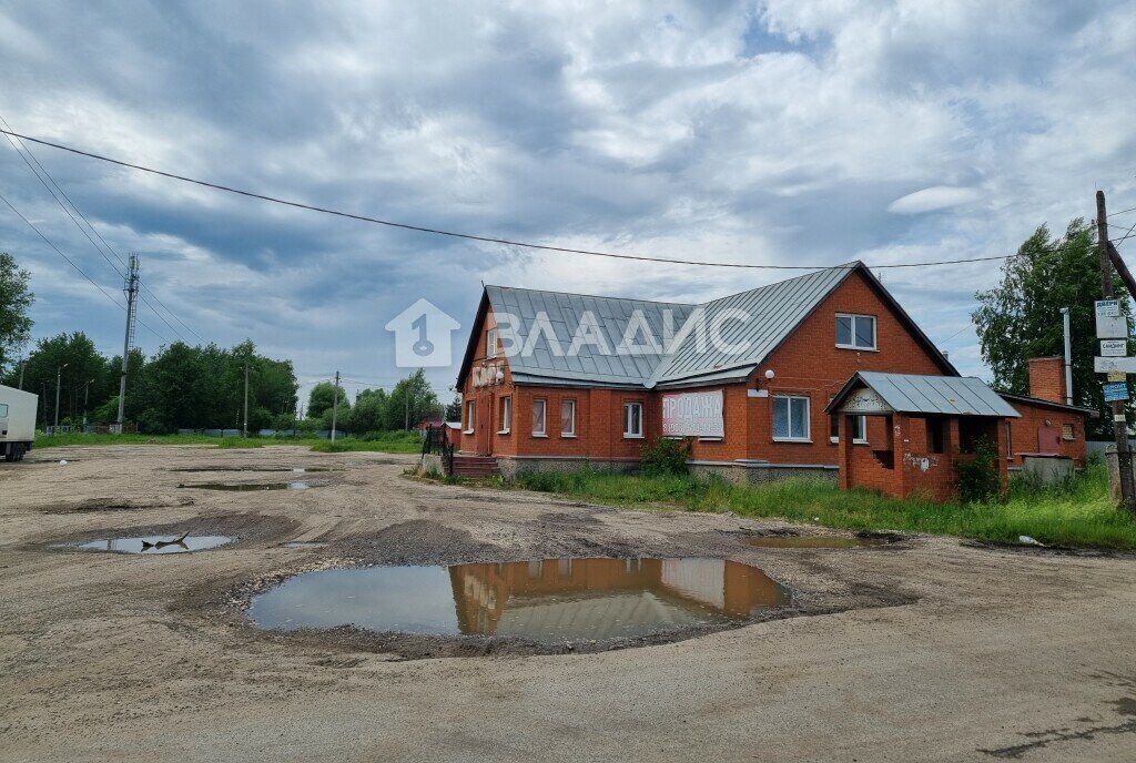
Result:
{"label": "distant strip of green grass below the far tree line", "polygon": [[204,435],[41,435],[35,450],[90,445],[212,445],[218,448],[252,448],[266,445],[303,445],[318,453],[370,451],[379,453],[418,453],[421,437],[416,431],[382,431],[364,437],[337,439],[335,446],[317,437],[206,437]]}

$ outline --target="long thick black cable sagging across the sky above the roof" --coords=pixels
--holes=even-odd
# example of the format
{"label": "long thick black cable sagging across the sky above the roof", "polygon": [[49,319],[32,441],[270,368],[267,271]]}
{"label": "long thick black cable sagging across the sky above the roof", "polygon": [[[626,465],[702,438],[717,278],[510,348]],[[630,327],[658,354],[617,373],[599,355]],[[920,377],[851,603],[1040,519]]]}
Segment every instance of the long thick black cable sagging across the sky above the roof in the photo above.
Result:
{"label": "long thick black cable sagging across the sky above the roof", "polygon": [[[359,220],[361,223],[373,223],[375,225],[384,225],[392,228],[401,228],[404,230],[416,230],[419,233],[428,233],[438,236],[449,236],[451,238],[465,238],[468,241],[479,241],[491,244],[503,244],[507,246],[520,246],[524,249],[535,249],[548,252],[561,252],[566,254],[587,254],[591,257],[607,257],[619,260],[635,260],[641,262],[663,262],[669,265],[696,265],[703,267],[715,267],[715,268],[746,268],[755,270],[830,270],[836,268],[850,268],[853,266],[810,266],[810,265],[751,265],[745,262],[700,262],[698,260],[678,260],[661,257],[645,257],[640,254],[617,254],[613,252],[601,252],[587,249],[570,249],[567,246],[552,246],[549,244],[534,244],[523,241],[512,241],[510,238],[498,238],[494,236],[481,236],[469,233],[457,233],[454,230],[443,230],[441,228],[431,228],[420,225],[410,225],[408,223],[395,223],[393,220],[384,220],[376,217],[369,217],[366,215],[356,215],[353,212],[344,212],[341,210],[328,209],[326,207],[317,207],[315,204],[307,204],[299,201],[290,201],[287,199],[279,199],[277,196],[269,196],[262,193],[256,193],[252,191],[244,191],[241,188],[235,188],[227,185],[222,185],[219,183],[210,183],[208,181],[200,181],[192,177],[186,177],[184,175],[177,175],[174,173],[167,173],[160,169],[153,169],[151,167],[144,167],[142,165],[135,165],[128,161],[123,161],[120,159],[114,159],[111,157],[106,157],[99,153],[92,153],[90,151],[83,151],[81,149],[75,149],[69,145],[64,145],[61,143],[53,143],[51,141],[44,141],[37,137],[31,137],[28,135],[22,135],[20,133],[12,132],[10,129],[0,129],[8,135],[19,137],[20,140],[32,141],[33,143],[39,143],[41,145],[47,145],[52,149],[58,149],[60,151],[68,151],[70,153],[78,154],[81,157],[87,157],[89,159],[98,159],[99,161],[106,161],[112,165],[118,165],[119,167],[127,167],[130,169],[136,169],[142,173],[150,173],[151,175],[159,175],[161,177],[168,177],[170,179],[181,181],[183,183],[191,183],[193,185],[200,185],[207,188],[214,188],[216,191],[224,191],[226,193],[234,193],[241,196],[247,196],[249,199],[259,199],[261,201],[268,201],[275,204],[283,204],[285,207],[293,207],[295,209],[304,209],[312,212],[320,212],[324,215],[333,215],[335,217],[343,217],[352,220]],[[883,268],[921,268],[930,267],[937,265],[959,265],[963,262],[988,262],[992,260],[1004,260],[1012,255],[999,255],[999,257],[975,257],[958,260],[938,260],[933,262],[907,262],[897,265],[877,265],[869,266],[872,269]]]}

